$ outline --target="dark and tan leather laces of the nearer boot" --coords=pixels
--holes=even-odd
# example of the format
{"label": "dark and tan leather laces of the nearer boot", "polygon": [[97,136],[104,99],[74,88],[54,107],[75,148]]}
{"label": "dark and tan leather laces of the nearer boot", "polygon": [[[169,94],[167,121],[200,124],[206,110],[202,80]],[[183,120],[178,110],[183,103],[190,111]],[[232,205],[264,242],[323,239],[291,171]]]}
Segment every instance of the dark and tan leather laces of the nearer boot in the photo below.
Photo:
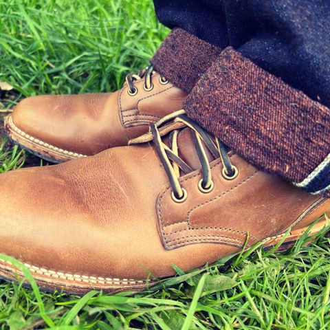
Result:
{"label": "dark and tan leather laces of the nearer boot", "polygon": [[[170,122],[170,123],[169,123]],[[171,127],[172,126],[172,127]],[[177,136],[181,129],[185,127],[192,129],[192,142],[195,145],[197,156],[201,164],[201,180],[199,181],[199,188],[203,192],[212,190],[214,184],[212,181],[212,173],[210,162],[206,155],[206,148],[212,153],[214,158],[220,158],[223,164],[222,174],[226,179],[233,179],[236,177],[238,170],[232,165],[228,155],[228,148],[221,143],[217,137],[211,137],[204,131],[199,124],[188,118],[184,110],[175,111],[166,115],[164,118],[150,125],[150,131],[142,137],[131,140],[130,144],[144,142],[146,140],[153,140],[157,155],[164,166],[170,185],[173,189],[173,199],[175,201],[184,201],[187,192],[181,187],[179,182],[180,170],[185,173],[191,173],[193,170],[179,157],[179,149],[177,146]],[[170,133],[170,147],[162,142],[162,136]],[[151,135],[148,137],[148,135]]]}

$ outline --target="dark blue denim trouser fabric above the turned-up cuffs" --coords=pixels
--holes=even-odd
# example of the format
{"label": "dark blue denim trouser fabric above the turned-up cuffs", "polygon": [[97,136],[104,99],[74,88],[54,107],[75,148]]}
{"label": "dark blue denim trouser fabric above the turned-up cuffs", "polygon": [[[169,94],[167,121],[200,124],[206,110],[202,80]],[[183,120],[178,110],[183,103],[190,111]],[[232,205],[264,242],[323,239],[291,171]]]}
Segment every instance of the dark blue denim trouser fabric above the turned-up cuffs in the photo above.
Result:
{"label": "dark blue denim trouser fabric above the turned-up cuffs", "polygon": [[330,107],[329,0],[154,0],[160,22],[239,50]]}

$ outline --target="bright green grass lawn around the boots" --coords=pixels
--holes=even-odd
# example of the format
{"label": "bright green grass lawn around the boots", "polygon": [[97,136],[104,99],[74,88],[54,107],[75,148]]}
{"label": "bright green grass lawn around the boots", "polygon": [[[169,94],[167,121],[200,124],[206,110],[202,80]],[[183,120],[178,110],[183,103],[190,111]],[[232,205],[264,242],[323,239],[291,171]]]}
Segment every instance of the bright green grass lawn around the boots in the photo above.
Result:
{"label": "bright green grass lawn around the boots", "polygon": [[[0,27],[0,82],[14,87],[0,91],[0,109],[37,94],[118,89],[168,33],[151,0],[0,0]],[[0,172],[39,164],[0,144]],[[330,329],[329,237],[176,269],[135,294],[80,298],[0,281],[0,329]]]}

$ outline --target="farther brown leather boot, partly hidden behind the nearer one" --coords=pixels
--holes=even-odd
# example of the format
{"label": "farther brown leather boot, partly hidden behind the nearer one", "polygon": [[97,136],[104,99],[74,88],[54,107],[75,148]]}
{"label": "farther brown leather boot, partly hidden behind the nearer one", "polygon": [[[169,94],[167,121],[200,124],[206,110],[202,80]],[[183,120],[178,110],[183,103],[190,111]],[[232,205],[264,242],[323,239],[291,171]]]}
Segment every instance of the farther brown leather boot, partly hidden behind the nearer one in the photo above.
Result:
{"label": "farther brown leather boot, partly hidden behind the nearer one", "polygon": [[112,94],[34,96],[5,119],[10,139],[50,162],[127,145],[148,125],[181,109],[186,94],[148,67]]}

